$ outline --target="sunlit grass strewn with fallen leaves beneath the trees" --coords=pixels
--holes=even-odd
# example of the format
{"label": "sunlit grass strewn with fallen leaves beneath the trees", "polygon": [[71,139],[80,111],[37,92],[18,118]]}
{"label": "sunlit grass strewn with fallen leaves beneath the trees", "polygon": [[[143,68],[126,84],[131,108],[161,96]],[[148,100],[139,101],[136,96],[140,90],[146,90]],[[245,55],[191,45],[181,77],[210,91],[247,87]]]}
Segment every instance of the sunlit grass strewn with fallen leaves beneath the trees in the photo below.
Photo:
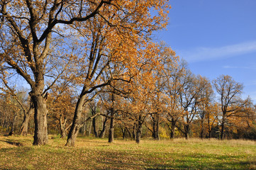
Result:
{"label": "sunlit grass strewn with fallen leaves beneath the trees", "polygon": [[256,142],[247,140],[130,140],[79,137],[76,147],[50,139],[0,136],[0,169],[256,169]]}

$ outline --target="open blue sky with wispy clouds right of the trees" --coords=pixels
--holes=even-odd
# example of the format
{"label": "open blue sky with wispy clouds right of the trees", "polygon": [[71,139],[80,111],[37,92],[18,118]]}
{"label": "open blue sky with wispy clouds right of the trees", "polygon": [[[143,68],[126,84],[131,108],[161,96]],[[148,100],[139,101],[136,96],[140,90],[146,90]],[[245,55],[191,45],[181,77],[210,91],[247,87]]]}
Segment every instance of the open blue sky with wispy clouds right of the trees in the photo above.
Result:
{"label": "open blue sky with wispy clouds right of the trees", "polygon": [[228,74],[256,101],[256,0],[169,0],[167,30],[157,34],[194,74]]}

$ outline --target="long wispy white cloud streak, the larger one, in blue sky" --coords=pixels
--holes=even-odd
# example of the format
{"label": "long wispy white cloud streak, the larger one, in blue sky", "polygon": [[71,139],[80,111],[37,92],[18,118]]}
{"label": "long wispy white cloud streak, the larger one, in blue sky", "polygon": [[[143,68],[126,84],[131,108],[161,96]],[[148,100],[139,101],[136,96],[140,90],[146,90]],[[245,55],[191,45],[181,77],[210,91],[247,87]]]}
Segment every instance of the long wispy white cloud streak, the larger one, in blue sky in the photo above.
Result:
{"label": "long wispy white cloud streak, the larger one, in blue sky", "polygon": [[256,41],[243,42],[223,47],[198,47],[195,50],[180,52],[187,62],[201,62],[206,60],[218,60],[220,58],[245,55],[256,52]]}

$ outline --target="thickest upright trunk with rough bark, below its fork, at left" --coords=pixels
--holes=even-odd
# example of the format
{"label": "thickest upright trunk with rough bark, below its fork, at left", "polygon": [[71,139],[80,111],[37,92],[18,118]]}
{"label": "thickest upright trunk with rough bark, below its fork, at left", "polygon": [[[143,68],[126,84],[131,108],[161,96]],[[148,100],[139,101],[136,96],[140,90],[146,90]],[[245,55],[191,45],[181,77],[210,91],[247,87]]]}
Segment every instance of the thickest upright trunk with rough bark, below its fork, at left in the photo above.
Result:
{"label": "thickest upright trunk with rough bark, below its fork, at left", "polygon": [[35,133],[33,145],[45,145],[48,143],[47,129],[47,107],[46,100],[41,95],[32,95],[33,104],[35,106]]}

